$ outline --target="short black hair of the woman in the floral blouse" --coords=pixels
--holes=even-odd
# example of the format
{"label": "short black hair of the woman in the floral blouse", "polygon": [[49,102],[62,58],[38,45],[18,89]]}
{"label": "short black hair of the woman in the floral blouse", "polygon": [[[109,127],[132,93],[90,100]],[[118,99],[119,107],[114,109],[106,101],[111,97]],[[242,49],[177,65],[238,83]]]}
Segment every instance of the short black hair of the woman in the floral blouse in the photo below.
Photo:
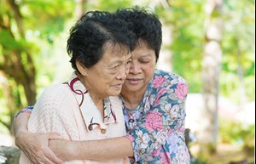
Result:
{"label": "short black hair of the woman in the floral blouse", "polygon": [[151,10],[139,6],[119,8],[115,16],[128,23],[131,31],[136,34],[137,42],[143,39],[150,48],[154,49],[157,61],[162,44],[162,25],[158,16]]}

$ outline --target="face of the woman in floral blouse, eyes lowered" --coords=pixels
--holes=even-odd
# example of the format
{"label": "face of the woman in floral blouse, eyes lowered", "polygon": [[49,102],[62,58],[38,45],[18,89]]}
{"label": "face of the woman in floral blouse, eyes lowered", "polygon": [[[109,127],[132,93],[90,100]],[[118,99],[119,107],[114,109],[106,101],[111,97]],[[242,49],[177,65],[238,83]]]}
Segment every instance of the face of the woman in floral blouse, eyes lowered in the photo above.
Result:
{"label": "face of the woman in floral blouse, eyes lowered", "polygon": [[140,40],[137,48],[131,52],[131,67],[123,85],[122,94],[137,92],[144,94],[148,82],[154,76],[156,57],[154,50]]}

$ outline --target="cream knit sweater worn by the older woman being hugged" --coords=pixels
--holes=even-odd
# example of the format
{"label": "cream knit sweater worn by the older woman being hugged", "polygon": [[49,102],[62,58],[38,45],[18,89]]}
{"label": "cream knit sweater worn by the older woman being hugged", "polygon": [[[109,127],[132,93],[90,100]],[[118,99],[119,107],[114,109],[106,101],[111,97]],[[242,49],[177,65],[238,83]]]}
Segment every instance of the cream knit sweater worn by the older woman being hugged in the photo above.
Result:
{"label": "cream knit sweater worn by the older woman being hugged", "polygon": [[[117,122],[107,125],[107,133],[102,134],[96,127],[88,132],[85,127],[79,104],[71,89],[62,83],[47,88],[38,99],[28,121],[28,130],[33,133],[60,133],[65,139],[83,141],[107,139],[125,135],[125,121],[122,103],[118,96],[111,97]],[[30,164],[24,153],[21,153],[20,164]],[[126,164],[128,158],[112,161],[66,161],[66,164]]]}

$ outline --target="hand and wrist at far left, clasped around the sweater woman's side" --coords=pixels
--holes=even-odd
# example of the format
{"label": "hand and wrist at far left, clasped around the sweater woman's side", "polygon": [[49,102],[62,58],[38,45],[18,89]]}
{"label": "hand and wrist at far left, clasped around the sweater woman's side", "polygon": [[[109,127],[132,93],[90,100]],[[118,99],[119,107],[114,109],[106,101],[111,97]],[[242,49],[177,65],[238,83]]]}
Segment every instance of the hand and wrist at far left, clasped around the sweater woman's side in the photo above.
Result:
{"label": "hand and wrist at far left, clasped around the sweater woman's side", "polygon": [[15,118],[13,130],[15,144],[32,163],[63,163],[48,147],[49,139],[62,139],[57,133],[30,133],[27,122],[30,112],[20,112]]}

